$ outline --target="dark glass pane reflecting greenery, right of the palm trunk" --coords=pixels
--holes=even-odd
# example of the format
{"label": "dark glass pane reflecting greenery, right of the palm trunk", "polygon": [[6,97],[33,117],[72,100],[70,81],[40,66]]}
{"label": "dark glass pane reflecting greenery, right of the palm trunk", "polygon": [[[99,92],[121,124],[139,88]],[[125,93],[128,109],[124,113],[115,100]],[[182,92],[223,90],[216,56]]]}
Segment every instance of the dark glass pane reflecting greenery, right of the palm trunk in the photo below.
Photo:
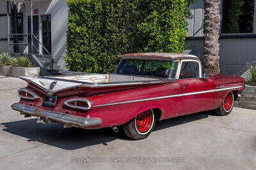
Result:
{"label": "dark glass pane reflecting greenery, right of the palm trunk", "polygon": [[255,0],[223,0],[222,33],[252,33]]}

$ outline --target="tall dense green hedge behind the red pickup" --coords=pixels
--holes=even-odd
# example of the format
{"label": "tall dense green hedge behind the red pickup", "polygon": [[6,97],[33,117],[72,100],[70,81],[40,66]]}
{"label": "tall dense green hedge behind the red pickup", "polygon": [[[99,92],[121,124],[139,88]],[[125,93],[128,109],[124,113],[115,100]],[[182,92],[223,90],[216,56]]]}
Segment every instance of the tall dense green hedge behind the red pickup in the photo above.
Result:
{"label": "tall dense green hedge behind the red pickup", "polygon": [[67,1],[67,68],[111,73],[123,53],[182,52],[191,1]]}

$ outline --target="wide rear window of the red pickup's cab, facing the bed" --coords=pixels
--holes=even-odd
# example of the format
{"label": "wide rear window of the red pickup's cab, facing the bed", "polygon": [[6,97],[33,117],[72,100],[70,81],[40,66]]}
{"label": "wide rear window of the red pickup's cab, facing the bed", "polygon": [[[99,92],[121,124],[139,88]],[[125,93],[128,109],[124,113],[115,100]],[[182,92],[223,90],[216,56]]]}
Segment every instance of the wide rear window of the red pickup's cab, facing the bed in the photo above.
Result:
{"label": "wide rear window of the red pickup's cab, facing the bed", "polygon": [[122,59],[114,74],[175,78],[177,61]]}

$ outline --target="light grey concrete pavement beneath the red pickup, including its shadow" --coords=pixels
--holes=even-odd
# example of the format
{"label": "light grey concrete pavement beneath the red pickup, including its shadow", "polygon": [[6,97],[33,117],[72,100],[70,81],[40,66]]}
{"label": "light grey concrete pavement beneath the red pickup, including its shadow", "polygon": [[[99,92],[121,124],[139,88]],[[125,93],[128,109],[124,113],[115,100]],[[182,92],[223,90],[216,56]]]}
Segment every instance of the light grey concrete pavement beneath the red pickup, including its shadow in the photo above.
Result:
{"label": "light grey concrete pavement beneath the red pickup, including its shadow", "polygon": [[65,129],[24,118],[10,106],[26,85],[0,76],[0,169],[256,169],[256,110],[170,118],[133,141],[110,128]]}

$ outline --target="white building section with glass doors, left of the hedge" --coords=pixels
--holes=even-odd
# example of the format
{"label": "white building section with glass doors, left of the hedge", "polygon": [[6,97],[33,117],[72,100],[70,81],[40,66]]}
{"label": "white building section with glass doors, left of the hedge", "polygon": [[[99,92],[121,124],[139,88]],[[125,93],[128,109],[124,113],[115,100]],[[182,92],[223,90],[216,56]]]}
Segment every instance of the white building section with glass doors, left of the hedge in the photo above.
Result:
{"label": "white building section with glass doors, left of the hedge", "polygon": [[[30,33],[31,10],[30,1],[9,1],[10,4],[10,32],[15,32],[12,18],[13,4],[17,8],[17,33]],[[7,24],[7,1],[0,0],[0,53],[8,52],[8,24]],[[68,7],[63,0],[33,0],[33,33],[36,38],[47,48],[58,65],[65,68],[66,33],[68,22]],[[10,43],[13,43],[10,36]],[[47,54],[38,41],[34,45],[42,54]],[[26,45],[28,44],[28,45]],[[13,53],[10,45],[10,53]],[[31,37],[19,36],[19,50],[15,53],[31,53]],[[38,53],[33,50],[33,53]]]}

